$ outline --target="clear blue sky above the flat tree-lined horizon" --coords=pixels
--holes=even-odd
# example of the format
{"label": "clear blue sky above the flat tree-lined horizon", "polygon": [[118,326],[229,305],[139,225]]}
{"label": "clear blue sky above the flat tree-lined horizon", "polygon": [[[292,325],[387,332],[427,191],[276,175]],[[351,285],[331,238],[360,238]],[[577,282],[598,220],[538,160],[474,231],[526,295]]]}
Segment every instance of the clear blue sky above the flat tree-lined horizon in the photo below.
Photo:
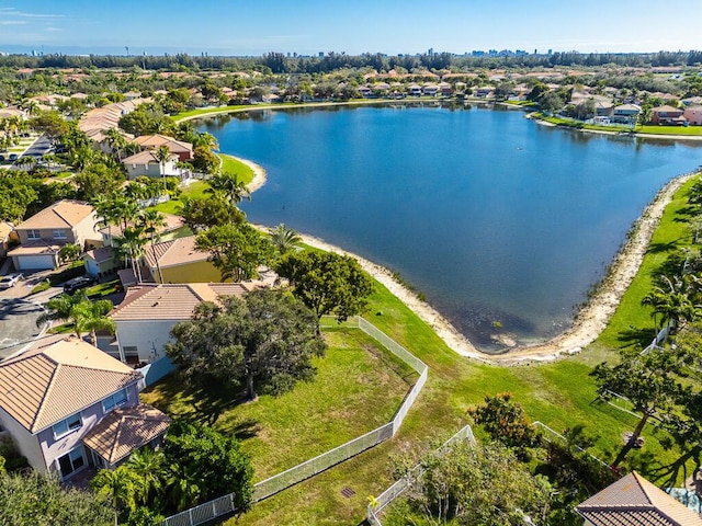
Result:
{"label": "clear blue sky above the flat tree-lined horizon", "polygon": [[702,0],[0,0],[0,52],[702,48]]}

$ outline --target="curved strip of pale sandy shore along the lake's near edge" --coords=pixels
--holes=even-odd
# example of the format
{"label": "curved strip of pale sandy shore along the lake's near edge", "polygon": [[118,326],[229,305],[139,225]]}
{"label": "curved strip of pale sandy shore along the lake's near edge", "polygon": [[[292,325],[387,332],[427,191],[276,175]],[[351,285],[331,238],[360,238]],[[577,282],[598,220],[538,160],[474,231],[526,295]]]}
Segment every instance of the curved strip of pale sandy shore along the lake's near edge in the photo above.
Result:
{"label": "curved strip of pale sandy shore along the lake's near edge", "polygon": [[[356,254],[347,252],[339,247],[329,244],[319,238],[305,235],[301,235],[301,237],[305,243],[312,247],[354,258],[364,271],[386,286],[400,301],[416,312],[419,318],[431,325],[439,338],[460,355],[503,365],[514,365],[524,362],[548,362],[556,359],[558,356],[580,352],[584,347],[592,343],[602,330],[604,330],[626,288],[638,272],[638,267],[648,249],[650,237],[660,221],[666,206],[670,203],[680,186],[692,176],[694,176],[694,174],[673,179],[656,195],[656,198],[644,210],[644,214],[633,228],[627,244],[618,254],[599,291],[578,313],[570,329],[543,344],[514,346],[510,348],[509,352],[500,355],[491,355],[478,351],[434,308],[420,300],[414,291],[397,283],[387,268]],[[503,334],[502,336],[503,341],[510,340],[509,334]]]}

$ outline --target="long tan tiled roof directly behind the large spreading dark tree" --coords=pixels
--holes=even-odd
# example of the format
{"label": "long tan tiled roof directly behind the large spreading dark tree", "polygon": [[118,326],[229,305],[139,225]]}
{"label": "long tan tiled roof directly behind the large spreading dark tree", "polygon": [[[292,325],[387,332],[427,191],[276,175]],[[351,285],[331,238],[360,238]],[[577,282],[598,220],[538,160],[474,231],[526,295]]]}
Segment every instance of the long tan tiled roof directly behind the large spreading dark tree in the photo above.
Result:
{"label": "long tan tiled roof directly behind the large spreading dark tree", "polygon": [[189,320],[203,301],[219,296],[244,296],[262,286],[262,282],[141,284],[129,287],[124,301],[110,318],[115,321]]}

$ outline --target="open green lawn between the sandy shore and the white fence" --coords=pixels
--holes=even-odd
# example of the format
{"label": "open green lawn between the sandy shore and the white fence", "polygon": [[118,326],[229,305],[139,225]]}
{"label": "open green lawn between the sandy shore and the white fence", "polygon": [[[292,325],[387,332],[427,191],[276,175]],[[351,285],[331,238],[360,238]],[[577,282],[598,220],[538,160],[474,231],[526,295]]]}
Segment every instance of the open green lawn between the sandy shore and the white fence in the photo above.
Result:
{"label": "open green lawn between the sandy shore and the white fence", "polygon": [[[645,340],[652,339],[653,320],[639,301],[650,283],[650,272],[673,247],[684,244],[689,236],[680,222],[688,187],[683,187],[667,208],[642,271],[607,331],[579,355],[552,364],[498,367],[462,358],[387,289],[376,284],[370,312],[382,311],[383,315],[369,318],[429,366],[429,381],[400,432],[392,441],[258,503],[236,524],[359,524],[367,496],[380,494],[392,483],[388,456],[457,431],[468,423],[465,410],[480,403],[486,393],[511,391],[532,420],[557,432],[586,424],[586,432],[598,437],[590,453],[611,461],[622,446],[622,433],[631,431],[636,419],[599,402],[589,373],[595,364],[614,358],[616,347],[631,343],[629,336],[622,339],[620,335],[626,333],[630,325],[645,333]],[[476,431],[479,438],[479,430]],[[676,465],[681,453],[665,447],[661,444],[665,434],[650,425],[646,426],[643,436],[645,446],[630,451],[623,467],[636,469],[659,484],[672,480],[679,485],[684,478],[680,466]],[[690,466],[688,461],[688,469]],[[341,490],[346,488],[355,494],[344,496]],[[227,524],[234,526],[235,522]]]}

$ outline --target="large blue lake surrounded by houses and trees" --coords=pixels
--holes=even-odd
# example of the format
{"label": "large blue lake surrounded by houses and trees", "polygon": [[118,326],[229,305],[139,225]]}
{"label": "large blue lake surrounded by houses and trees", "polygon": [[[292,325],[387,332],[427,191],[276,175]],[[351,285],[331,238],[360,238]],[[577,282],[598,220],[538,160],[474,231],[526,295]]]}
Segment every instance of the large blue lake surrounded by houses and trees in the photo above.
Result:
{"label": "large blue lake surrounded by houses and trees", "polygon": [[200,129],[268,171],[249,220],[399,272],[487,352],[496,332],[531,343],[569,327],[656,192],[702,164],[702,144],[487,108],[268,110]]}

